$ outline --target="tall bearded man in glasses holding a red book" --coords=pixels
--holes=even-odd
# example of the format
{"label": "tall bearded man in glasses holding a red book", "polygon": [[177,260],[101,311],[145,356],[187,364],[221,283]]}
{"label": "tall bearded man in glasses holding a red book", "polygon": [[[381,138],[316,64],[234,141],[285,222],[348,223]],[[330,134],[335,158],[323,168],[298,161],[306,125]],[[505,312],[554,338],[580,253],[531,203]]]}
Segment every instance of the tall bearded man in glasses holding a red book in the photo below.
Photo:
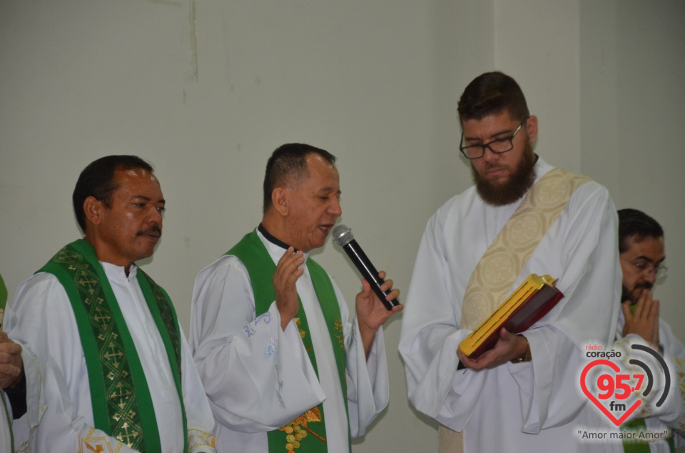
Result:
{"label": "tall bearded man in glasses holding a red book", "polygon": [[[478,76],[458,111],[475,186],[437,210],[422,238],[400,338],[410,400],[443,425],[439,452],[596,451],[577,433],[607,421],[578,375],[586,345],[614,340],[612,200],[534,153],[537,117],[511,77]],[[556,278],[564,298],[522,335],[502,329],[480,357],[457,351],[531,274]]]}

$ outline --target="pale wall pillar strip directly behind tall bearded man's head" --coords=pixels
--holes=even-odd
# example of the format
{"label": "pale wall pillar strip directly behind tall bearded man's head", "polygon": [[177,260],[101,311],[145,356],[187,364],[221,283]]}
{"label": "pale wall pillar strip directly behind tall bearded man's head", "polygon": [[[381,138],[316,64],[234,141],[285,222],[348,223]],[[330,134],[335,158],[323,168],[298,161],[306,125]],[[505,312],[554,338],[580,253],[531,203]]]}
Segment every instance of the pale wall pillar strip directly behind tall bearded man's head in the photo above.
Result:
{"label": "pale wall pillar strip directly behind tall bearded man's head", "polygon": [[495,1],[494,66],[514,77],[539,119],[535,151],[580,170],[578,2]]}

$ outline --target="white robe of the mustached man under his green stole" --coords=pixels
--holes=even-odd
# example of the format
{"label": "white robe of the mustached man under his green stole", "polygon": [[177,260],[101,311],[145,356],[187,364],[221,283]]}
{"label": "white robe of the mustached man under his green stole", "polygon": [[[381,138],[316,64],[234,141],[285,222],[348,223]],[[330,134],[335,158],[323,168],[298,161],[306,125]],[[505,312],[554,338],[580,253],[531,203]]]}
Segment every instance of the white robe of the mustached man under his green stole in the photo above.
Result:
{"label": "white robe of the mustached man under his green stole", "polygon": [[[159,430],[161,450],[165,453],[214,452],[208,443],[214,421],[203,392],[195,364],[183,331],[181,337],[181,387],[188,422],[188,446],[183,444],[183,418],[178,391],[173,381],[166,350],[136,279],[138,269],[131,265],[129,275],[124,268],[102,263],[124,320],[131,332],[151,393]],[[41,361],[46,403],[38,427],[31,432],[32,452],[89,451],[84,442],[111,451],[133,452],[126,444],[93,428],[91,390],[88,385],[86,361],[76,318],[64,287],[49,273],[39,273],[22,283],[14,300],[18,324],[11,335],[38,354]],[[29,407],[31,411],[31,407]],[[25,425],[15,421],[19,439]],[[22,439],[21,437],[24,437]],[[108,451],[106,447],[103,451]]]}

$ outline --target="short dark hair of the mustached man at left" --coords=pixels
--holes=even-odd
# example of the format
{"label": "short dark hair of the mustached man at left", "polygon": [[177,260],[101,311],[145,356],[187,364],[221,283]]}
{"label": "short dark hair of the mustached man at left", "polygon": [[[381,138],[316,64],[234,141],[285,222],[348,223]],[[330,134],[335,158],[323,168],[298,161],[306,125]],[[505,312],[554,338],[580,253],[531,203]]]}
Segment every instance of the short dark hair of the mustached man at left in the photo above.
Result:
{"label": "short dark hair of the mustached man at left", "polygon": [[83,211],[83,202],[86,198],[95,197],[110,207],[111,195],[119,188],[114,180],[114,172],[133,168],[153,172],[152,166],[138,156],[105,156],[83,168],[71,194],[73,213],[76,214],[76,221],[83,233],[86,233],[86,213]]}

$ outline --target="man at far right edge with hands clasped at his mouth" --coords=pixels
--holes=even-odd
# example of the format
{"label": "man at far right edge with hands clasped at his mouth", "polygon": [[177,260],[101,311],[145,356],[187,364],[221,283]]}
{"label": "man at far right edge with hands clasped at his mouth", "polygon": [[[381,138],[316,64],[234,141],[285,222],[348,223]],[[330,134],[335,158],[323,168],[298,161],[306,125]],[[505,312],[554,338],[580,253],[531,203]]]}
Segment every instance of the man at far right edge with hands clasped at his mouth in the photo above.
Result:
{"label": "man at far right edge with hands clasped at his mouth", "polygon": [[[664,432],[672,428],[674,436],[656,442],[626,442],[630,452],[674,452],[685,444],[685,414],[681,386],[685,386],[685,347],[659,317],[659,300],[652,298],[652,287],[659,277],[666,275],[664,260],[664,230],[661,225],[640,210],[619,210],[619,253],[623,271],[622,311],[617,327],[617,347],[624,350],[629,344],[646,342],[659,351],[669,366],[671,389],[659,415],[636,419],[621,429]],[[639,335],[641,338],[637,338]]]}

